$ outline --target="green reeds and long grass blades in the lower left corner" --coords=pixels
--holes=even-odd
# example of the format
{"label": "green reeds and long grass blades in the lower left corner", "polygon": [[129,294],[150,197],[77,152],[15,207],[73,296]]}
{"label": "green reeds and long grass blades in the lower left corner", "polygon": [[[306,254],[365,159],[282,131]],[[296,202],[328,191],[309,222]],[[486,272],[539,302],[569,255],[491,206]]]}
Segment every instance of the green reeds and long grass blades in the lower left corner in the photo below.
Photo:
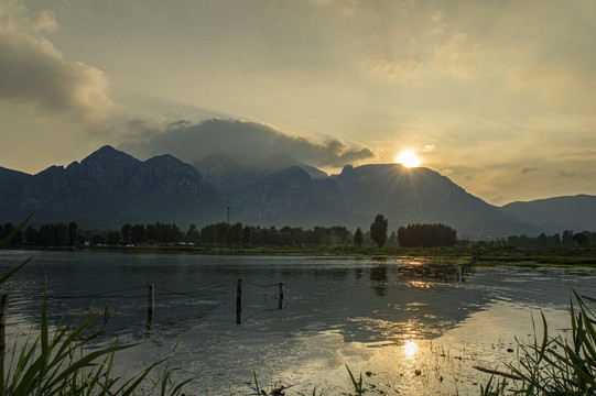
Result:
{"label": "green reeds and long grass blades in the lower left corner", "polygon": [[[7,238],[0,241],[4,249],[31,219],[31,215]],[[25,266],[25,260],[0,277],[0,285]],[[42,301],[40,334],[30,337],[22,346],[14,345],[0,351],[0,395],[133,395],[149,391],[160,395],[180,395],[191,380],[175,383],[170,364],[158,380],[150,378],[156,367],[167,358],[161,359],[141,370],[131,378],[113,375],[113,359],[117,352],[136,344],[119,345],[118,341],[108,348],[86,353],[85,346],[100,336],[95,323],[98,314],[90,314],[80,324],[61,320],[51,334],[47,321],[46,293]],[[141,388],[150,385],[150,389]]]}

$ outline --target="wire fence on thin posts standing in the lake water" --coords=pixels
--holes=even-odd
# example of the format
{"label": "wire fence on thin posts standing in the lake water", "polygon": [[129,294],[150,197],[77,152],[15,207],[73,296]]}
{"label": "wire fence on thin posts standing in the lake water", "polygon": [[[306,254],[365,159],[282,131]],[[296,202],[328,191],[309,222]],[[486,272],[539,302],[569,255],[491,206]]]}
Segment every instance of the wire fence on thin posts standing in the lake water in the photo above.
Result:
{"label": "wire fence on thin posts standing in the lake water", "polygon": [[[238,284],[220,283],[209,287],[176,290],[159,285],[142,285],[117,288],[93,294],[57,294],[48,290],[45,295],[50,316],[73,320],[95,312],[98,324],[106,333],[154,332],[159,329],[178,327],[181,331],[196,320],[224,320],[241,324],[263,312],[285,307],[283,283],[258,284],[238,279]],[[236,297],[236,298],[235,298]],[[14,295],[11,305],[39,307],[43,295]],[[35,301],[35,304],[33,304]],[[26,311],[26,309],[23,309]],[[34,308],[30,308],[35,312]],[[229,319],[228,319],[229,318]],[[6,318],[4,318],[6,319]],[[0,323],[1,326],[1,323]],[[31,318],[21,315],[10,321],[18,331],[31,326]]]}

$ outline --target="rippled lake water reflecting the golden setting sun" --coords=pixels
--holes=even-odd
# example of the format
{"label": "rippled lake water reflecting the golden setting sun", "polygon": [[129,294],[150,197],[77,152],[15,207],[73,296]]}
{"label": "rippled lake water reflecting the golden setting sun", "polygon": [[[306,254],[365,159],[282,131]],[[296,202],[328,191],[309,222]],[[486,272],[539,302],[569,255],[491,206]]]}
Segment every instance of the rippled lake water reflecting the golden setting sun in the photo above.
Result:
{"label": "rippled lake water reflecting the golden setting sun", "polygon": [[193,395],[247,395],[253,370],[261,385],[294,385],[288,395],[314,386],[338,395],[350,391],[346,365],[387,394],[477,394],[490,375],[473,366],[505,370],[517,340],[533,333],[532,317],[541,329],[542,311],[551,331],[565,331],[571,290],[596,296],[595,268],[462,274],[438,258],[2,251],[0,272],[31,255],[2,286],[11,295],[9,339],[22,342],[37,330],[47,285],[53,326],[95,310],[100,344],[141,342],[118,356],[118,370],[167,355],[180,342],[172,362],[183,377],[196,377]]}

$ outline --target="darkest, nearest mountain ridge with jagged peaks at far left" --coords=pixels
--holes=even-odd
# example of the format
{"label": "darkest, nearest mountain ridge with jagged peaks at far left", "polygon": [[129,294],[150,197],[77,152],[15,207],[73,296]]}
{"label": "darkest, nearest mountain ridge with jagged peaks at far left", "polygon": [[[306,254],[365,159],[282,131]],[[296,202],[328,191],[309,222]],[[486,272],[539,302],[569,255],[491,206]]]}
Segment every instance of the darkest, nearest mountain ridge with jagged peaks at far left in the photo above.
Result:
{"label": "darkest, nearest mountain ridge with jagged peaks at far left", "polygon": [[193,166],[171,155],[141,162],[111,146],[13,182],[0,178],[0,188],[13,191],[0,197],[0,216],[11,221],[36,211],[33,223],[119,229],[124,222],[184,224],[188,217],[217,221],[214,212],[224,211],[217,190]]}

